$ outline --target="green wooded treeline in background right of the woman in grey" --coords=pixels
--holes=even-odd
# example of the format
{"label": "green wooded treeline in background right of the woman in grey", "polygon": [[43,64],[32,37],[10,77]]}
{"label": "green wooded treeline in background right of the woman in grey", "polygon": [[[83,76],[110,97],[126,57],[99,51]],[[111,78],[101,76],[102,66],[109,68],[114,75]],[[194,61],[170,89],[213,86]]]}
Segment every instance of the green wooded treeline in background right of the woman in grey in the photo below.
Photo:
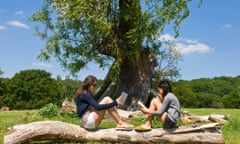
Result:
{"label": "green wooded treeline in background right of the woman in grey", "polygon": [[240,108],[239,77],[200,78],[174,83],[183,107]]}

